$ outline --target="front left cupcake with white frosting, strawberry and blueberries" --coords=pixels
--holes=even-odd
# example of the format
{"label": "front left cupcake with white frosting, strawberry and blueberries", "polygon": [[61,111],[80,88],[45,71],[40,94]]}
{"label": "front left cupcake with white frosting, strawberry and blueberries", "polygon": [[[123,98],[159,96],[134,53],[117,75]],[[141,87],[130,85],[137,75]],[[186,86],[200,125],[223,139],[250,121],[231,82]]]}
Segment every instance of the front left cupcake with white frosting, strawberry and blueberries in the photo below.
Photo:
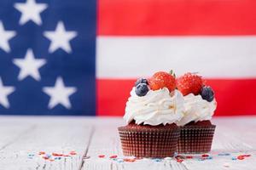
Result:
{"label": "front left cupcake with white frosting, strawberry and blueberries", "polygon": [[119,136],[125,156],[166,157],[177,149],[183,117],[183,95],[175,76],[160,71],[149,80],[138,79],[125,108],[125,127]]}

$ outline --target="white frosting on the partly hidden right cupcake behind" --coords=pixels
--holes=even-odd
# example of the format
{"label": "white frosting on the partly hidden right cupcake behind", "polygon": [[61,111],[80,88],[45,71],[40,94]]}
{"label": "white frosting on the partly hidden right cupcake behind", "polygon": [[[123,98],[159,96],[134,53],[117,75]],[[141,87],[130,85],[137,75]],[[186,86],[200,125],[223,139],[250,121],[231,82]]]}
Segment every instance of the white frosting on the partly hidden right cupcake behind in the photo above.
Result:
{"label": "white frosting on the partly hidden right cupcake behind", "polygon": [[212,119],[212,115],[217,107],[215,99],[208,102],[201,98],[201,95],[188,94],[183,97],[185,99],[185,114],[183,118],[177,122],[178,126],[183,126],[189,122],[207,121]]}

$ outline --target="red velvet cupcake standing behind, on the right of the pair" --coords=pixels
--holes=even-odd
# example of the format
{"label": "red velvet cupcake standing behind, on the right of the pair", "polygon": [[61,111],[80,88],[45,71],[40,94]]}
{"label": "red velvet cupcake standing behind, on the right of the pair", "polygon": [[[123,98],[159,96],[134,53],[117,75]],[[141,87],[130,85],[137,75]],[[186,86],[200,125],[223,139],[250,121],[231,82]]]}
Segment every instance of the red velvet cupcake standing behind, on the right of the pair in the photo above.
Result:
{"label": "red velvet cupcake standing behind, on the right of the pair", "polygon": [[177,152],[209,152],[216,127],[211,119],[217,106],[212,88],[200,76],[186,73],[177,79],[177,89],[184,99],[184,116],[177,122],[181,127]]}

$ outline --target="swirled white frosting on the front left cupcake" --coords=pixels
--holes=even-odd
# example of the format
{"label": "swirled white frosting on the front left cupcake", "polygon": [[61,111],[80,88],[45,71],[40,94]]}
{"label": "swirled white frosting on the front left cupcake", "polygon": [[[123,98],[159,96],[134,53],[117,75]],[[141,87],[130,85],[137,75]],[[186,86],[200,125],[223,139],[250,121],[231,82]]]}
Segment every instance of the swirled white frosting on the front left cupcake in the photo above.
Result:
{"label": "swirled white frosting on the front left cupcake", "polygon": [[137,124],[152,126],[179,121],[183,117],[183,95],[175,90],[170,94],[168,88],[149,90],[145,96],[137,96],[135,88],[131,90],[125,108],[125,122],[135,120]]}

